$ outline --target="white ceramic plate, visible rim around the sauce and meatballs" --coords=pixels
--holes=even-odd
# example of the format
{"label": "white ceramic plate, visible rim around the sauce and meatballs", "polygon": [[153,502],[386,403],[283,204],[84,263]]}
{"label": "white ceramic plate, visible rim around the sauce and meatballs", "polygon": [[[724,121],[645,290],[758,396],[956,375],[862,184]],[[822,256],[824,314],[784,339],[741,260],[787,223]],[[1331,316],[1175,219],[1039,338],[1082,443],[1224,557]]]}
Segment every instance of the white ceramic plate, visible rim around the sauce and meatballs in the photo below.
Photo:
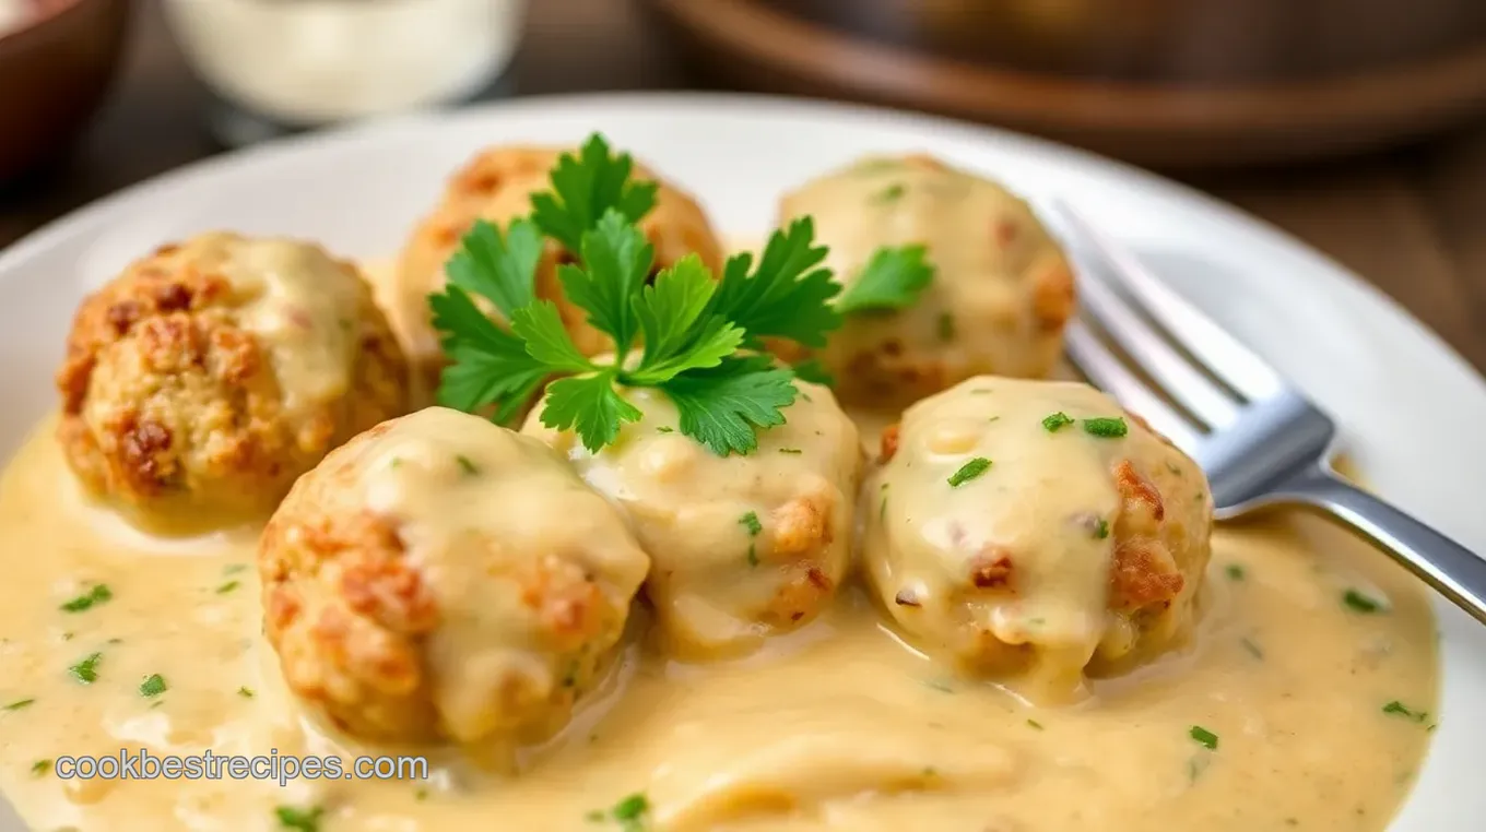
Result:
{"label": "white ceramic plate, visible rim around the sauce and meatballs", "polygon": [[[1034,202],[1068,199],[1333,413],[1378,490],[1486,551],[1486,383],[1334,263],[1195,192],[1067,147],[755,97],[528,100],[319,134],[192,165],[59,220],[0,253],[0,455],[55,406],[52,370],[79,299],[155,245],[227,227],[385,257],[476,149],[575,143],[594,129],[694,190],[731,235],[764,232],[783,189],[868,152],[927,150]],[[1471,832],[1486,817],[1476,777],[1486,747],[1486,630],[1443,603],[1437,611],[1443,722],[1395,832]],[[19,829],[0,817],[0,831],[12,825]]]}

